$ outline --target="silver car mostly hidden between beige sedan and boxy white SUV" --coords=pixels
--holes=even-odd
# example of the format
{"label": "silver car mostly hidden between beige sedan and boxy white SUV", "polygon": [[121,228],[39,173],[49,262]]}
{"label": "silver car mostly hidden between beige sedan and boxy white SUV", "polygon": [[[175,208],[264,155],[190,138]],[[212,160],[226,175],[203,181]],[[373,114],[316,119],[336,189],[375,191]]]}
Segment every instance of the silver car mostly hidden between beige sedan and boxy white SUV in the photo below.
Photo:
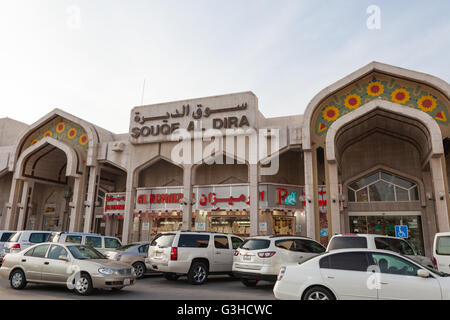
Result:
{"label": "silver car mostly hidden between beige sedan and boxy white SUV", "polygon": [[149,271],[145,266],[145,258],[147,258],[149,246],[150,242],[131,243],[115,250],[106,251],[105,255],[108,259],[121,261],[133,266],[136,271],[136,278],[142,279]]}

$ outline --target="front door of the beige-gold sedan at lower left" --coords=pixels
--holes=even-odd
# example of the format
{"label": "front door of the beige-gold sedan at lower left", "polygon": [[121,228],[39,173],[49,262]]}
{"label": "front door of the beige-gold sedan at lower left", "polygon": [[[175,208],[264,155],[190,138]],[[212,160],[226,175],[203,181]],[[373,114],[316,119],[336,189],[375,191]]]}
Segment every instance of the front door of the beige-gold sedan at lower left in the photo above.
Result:
{"label": "front door of the beige-gold sedan at lower left", "polygon": [[69,259],[69,253],[60,245],[52,244],[44,259],[42,267],[42,281],[66,283],[71,272],[71,262],[61,260],[60,257]]}

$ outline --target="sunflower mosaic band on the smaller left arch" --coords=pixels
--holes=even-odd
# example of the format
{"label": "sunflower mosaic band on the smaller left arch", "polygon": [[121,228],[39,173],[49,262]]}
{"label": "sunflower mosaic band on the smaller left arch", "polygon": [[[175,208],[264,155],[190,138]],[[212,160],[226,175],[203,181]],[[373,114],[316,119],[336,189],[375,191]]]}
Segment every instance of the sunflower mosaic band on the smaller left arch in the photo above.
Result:
{"label": "sunflower mosaic band on the smaller left arch", "polygon": [[67,142],[87,154],[89,138],[86,131],[71,121],[58,117],[43,127],[37,129],[25,141],[24,148],[28,148],[45,137],[52,137]]}

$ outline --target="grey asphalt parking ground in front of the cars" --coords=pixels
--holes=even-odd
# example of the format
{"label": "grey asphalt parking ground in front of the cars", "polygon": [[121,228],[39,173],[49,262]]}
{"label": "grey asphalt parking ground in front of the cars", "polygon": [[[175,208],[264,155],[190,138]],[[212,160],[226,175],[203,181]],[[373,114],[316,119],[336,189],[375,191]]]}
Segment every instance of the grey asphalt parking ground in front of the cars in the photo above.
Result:
{"label": "grey asphalt parking ground in front of the cars", "polygon": [[168,281],[162,276],[149,275],[134,286],[120,292],[96,290],[89,297],[76,295],[66,287],[28,284],[23,290],[14,290],[9,282],[0,279],[0,300],[5,299],[150,299],[150,300],[273,300],[273,284],[260,282],[254,288],[245,287],[239,280],[228,276],[211,276],[202,286],[188,283],[186,277]]}

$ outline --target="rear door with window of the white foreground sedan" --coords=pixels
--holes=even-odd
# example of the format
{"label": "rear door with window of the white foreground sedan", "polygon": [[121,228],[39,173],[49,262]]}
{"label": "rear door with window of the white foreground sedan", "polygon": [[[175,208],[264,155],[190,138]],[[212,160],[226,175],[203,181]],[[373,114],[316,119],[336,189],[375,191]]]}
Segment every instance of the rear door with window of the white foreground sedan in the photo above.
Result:
{"label": "rear door with window of the white foreground sedan", "polygon": [[320,273],[324,283],[337,294],[338,299],[377,299],[376,286],[369,281],[369,260],[366,252],[342,252],[323,257]]}

